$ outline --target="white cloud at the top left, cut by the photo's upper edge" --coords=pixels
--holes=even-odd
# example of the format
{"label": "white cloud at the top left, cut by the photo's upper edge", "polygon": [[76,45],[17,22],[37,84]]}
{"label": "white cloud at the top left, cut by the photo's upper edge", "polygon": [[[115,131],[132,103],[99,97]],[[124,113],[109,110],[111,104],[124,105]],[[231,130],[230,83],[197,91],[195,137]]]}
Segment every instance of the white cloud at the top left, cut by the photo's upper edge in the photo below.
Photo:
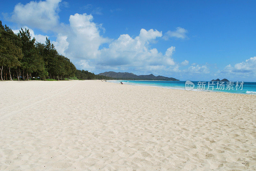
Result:
{"label": "white cloud at the top left, cut by the photo's upper edge", "polygon": [[59,3],[61,0],[30,1],[17,4],[10,20],[20,25],[36,27],[43,31],[52,30],[59,24]]}

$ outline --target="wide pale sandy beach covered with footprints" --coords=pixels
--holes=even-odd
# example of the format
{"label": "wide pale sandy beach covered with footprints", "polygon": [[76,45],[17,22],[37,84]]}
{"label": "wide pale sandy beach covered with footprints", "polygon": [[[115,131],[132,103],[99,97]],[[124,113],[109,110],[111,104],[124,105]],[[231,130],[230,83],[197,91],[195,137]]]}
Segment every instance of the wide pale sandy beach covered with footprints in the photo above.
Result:
{"label": "wide pale sandy beach covered with footprints", "polygon": [[0,82],[0,170],[256,170],[256,96]]}

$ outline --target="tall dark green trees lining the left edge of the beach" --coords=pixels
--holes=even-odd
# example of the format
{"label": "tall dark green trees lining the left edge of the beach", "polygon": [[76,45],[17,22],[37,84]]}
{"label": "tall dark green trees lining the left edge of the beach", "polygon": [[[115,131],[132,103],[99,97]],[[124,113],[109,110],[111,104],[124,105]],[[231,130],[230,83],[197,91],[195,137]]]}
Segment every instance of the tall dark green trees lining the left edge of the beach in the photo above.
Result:
{"label": "tall dark green trees lining the left edge of the beach", "polygon": [[31,38],[29,30],[21,28],[15,34],[0,21],[1,80],[58,79],[75,76],[75,65],[60,55],[46,37],[45,44]]}

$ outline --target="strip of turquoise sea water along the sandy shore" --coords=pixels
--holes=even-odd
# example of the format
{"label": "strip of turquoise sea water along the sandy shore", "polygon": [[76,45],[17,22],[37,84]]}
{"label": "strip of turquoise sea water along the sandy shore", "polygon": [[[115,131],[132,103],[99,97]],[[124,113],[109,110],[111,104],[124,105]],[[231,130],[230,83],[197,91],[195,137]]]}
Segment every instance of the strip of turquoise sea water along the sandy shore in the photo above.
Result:
{"label": "strip of turquoise sea water along the sandy shore", "polygon": [[[141,80],[108,80],[108,82],[141,86],[156,86],[163,88],[172,88],[185,90],[186,81],[141,81]],[[256,95],[256,82],[210,82],[208,81],[191,81],[194,88],[190,91],[211,91],[211,92],[228,92],[239,94]],[[221,84],[221,85],[220,85]],[[209,87],[208,87],[209,85]],[[207,90],[208,89],[208,90]]]}

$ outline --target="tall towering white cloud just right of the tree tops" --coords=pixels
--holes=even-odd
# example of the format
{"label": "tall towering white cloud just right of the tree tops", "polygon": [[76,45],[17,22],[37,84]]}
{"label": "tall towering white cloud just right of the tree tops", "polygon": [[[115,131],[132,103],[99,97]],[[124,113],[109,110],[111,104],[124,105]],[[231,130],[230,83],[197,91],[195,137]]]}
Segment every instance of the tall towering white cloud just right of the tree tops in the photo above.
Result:
{"label": "tall towering white cloud just right of the tree tops", "polygon": [[[99,46],[108,42],[100,36],[99,26],[92,22],[92,15],[70,15],[70,30],[67,33],[68,48],[65,54],[77,59],[92,59],[100,56]],[[63,46],[66,46],[65,43]]]}

